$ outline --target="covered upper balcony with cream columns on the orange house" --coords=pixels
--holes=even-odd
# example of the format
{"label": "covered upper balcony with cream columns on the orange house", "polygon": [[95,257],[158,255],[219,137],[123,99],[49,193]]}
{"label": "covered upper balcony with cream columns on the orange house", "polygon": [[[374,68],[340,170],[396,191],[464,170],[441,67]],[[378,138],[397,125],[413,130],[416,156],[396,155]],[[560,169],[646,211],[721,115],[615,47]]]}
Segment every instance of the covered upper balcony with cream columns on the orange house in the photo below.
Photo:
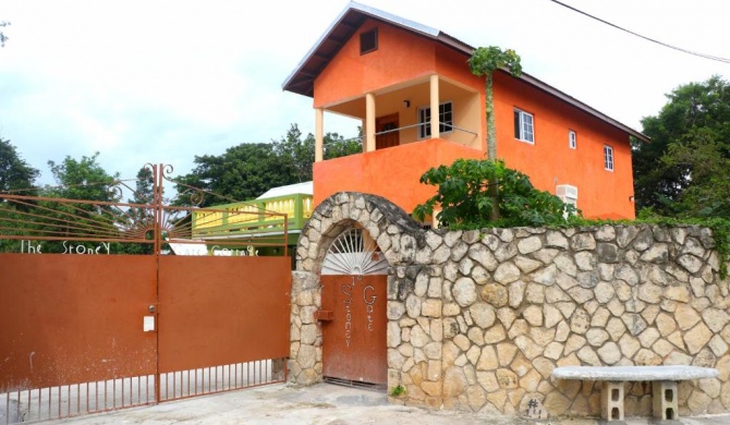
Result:
{"label": "covered upper balcony with cream columns on the orange house", "polygon": [[[419,183],[428,169],[484,158],[483,84],[434,73],[342,99],[338,86],[320,87],[328,104],[318,105],[315,97],[315,205],[355,191],[384,196],[411,212],[435,194],[435,187]],[[362,122],[362,154],[323,160],[324,112]]]}

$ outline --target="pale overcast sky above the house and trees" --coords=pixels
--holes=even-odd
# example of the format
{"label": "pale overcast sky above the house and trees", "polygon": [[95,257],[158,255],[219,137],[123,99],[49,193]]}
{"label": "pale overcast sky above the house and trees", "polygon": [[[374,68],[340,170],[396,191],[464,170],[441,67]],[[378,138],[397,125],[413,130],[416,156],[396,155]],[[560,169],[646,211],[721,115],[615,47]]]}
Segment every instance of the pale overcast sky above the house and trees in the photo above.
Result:
{"label": "pale overcast sky above the house and trees", "polygon": [[[563,0],[636,33],[730,58],[728,0]],[[657,46],[549,0],[363,0],[475,47],[515,49],[523,70],[624,124],[730,64]],[[47,161],[100,151],[133,178],[188,172],[195,155],[314,132],[312,99],[281,84],[345,0],[0,0],[0,137],[52,183]],[[326,118],[325,131],[356,135]]]}

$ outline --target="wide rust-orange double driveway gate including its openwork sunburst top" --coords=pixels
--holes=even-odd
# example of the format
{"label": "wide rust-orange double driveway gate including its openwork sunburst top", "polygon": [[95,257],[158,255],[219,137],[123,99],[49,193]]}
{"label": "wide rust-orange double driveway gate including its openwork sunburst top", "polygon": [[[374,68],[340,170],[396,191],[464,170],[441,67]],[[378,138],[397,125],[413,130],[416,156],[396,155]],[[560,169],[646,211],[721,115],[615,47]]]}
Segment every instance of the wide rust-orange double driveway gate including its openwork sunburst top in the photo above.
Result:
{"label": "wide rust-orange double driveway gate including its openwork sunburst top", "polygon": [[0,193],[0,425],[285,379],[287,217],[163,205],[165,169],[149,204]]}

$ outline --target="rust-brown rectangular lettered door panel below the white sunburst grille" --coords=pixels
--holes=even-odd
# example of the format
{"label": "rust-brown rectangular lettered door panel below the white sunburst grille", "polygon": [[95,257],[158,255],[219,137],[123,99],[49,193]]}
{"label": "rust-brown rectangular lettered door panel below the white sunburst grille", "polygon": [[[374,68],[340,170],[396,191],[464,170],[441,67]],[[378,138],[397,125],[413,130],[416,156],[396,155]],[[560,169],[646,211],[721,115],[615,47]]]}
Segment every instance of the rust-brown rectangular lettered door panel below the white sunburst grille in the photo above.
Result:
{"label": "rust-brown rectangular lettered door panel below the white sunburst grille", "polygon": [[387,276],[321,277],[323,374],[326,378],[388,384]]}

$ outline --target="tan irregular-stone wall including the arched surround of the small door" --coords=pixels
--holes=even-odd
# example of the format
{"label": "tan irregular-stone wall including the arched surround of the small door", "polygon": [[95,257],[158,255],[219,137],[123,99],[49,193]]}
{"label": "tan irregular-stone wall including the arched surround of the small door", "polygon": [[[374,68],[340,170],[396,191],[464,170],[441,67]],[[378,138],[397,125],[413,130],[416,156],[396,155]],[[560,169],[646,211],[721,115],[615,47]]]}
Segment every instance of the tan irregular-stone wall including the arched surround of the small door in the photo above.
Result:
{"label": "tan irregular-stone wall including the arched surround of the small door", "polygon": [[[388,214],[384,214],[384,211]],[[344,193],[320,205],[297,250],[292,380],[321,377],[317,265],[328,240],[360,222],[391,264],[391,398],[430,408],[598,416],[598,385],[550,377],[562,365],[693,364],[680,415],[730,411],[728,281],[698,227],[422,231],[382,198]],[[626,385],[626,415],[650,415],[650,385]]]}

